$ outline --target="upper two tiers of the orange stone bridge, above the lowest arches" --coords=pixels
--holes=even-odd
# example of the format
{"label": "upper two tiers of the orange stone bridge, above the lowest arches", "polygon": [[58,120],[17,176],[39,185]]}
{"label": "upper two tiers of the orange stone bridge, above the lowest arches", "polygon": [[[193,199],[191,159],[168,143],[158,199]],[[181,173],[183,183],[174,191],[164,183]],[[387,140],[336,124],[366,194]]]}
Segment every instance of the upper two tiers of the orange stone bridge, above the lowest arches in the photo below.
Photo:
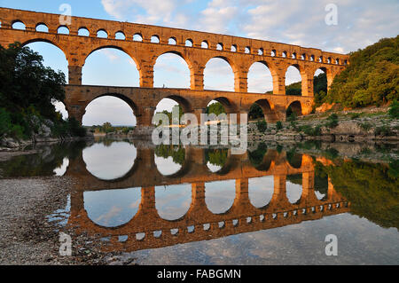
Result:
{"label": "upper two tiers of the orange stone bridge, above the lowest arches", "polygon": [[[59,15],[4,8],[0,8],[0,21],[0,43],[4,46],[15,41],[45,41],[64,51],[69,64],[70,84],[82,84],[82,67],[87,57],[107,47],[124,51],[135,61],[140,87],[144,88],[153,88],[153,67],[165,53],[175,53],[187,63],[192,90],[204,90],[205,67],[209,60],[215,58],[224,59],[231,66],[236,92],[248,91],[248,71],[255,62],[262,62],[270,69],[273,94],[286,94],[286,69],[295,66],[301,73],[302,96],[309,97],[313,96],[313,75],[318,68],[325,69],[330,86],[334,75],[348,64],[347,55],[176,28],[78,17],[72,17],[70,25],[61,25]],[[13,29],[17,23],[23,25],[25,30]]]}

